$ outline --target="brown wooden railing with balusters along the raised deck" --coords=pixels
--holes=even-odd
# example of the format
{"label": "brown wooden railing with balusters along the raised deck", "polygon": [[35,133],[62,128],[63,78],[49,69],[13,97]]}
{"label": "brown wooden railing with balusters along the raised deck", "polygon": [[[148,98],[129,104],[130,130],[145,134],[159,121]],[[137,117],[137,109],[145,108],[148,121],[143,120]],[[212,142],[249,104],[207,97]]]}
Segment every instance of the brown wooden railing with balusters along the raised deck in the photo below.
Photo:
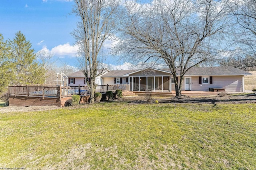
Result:
{"label": "brown wooden railing with balusters along the raised deck", "polygon": [[[129,84],[100,85],[96,86],[95,92],[105,93],[107,91],[129,90]],[[38,97],[68,97],[75,94],[90,94],[88,86],[8,86],[10,96],[38,96]]]}

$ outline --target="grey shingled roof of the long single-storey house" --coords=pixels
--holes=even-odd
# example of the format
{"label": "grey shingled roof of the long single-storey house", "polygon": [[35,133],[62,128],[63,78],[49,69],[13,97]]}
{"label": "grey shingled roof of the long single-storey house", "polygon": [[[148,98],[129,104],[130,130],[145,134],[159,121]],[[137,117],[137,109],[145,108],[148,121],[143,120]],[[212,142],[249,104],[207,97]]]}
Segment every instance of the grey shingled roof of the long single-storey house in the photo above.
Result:
{"label": "grey shingled roof of the long single-storey house", "polygon": [[[140,72],[142,70],[149,69],[144,68],[140,70],[104,70],[108,71],[103,74],[101,77],[126,77],[135,72]],[[169,69],[156,69],[162,72],[171,73]],[[248,75],[249,72],[234,68],[231,66],[220,66],[220,67],[192,67],[185,73],[185,76],[235,76],[235,75]],[[177,76],[180,76],[179,70],[177,70]],[[82,71],[77,71],[72,74],[69,74],[68,77],[84,77]]]}

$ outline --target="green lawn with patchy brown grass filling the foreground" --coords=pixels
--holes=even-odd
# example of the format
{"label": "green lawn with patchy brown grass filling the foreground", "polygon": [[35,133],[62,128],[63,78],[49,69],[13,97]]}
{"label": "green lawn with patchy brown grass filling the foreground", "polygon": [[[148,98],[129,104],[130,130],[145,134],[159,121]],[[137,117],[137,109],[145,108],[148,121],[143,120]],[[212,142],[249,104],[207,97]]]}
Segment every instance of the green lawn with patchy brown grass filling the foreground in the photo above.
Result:
{"label": "green lawn with patchy brown grass filling the foreground", "polygon": [[0,167],[256,169],[256,104],[107,102],[0,114]]}

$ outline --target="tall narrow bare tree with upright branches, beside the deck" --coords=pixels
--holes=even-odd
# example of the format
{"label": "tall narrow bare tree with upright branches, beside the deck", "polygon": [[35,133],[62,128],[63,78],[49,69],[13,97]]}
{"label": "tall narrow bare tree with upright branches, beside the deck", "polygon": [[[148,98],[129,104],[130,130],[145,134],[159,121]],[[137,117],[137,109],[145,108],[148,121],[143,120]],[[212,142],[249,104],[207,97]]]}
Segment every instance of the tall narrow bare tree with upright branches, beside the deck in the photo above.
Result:
{"label": "tall narrow bare tree with upright branches, beside the deck", "polygon": [[98,71],[99,58],[104,42],[113,31],[113,15],[118,2],[116,0],[74,0],[74,3],[73,12],[80,18],[80,22],[72,35],[79,46],[78,61],[86,77],[92,104],[97,86],[96,77],[102,73]]}

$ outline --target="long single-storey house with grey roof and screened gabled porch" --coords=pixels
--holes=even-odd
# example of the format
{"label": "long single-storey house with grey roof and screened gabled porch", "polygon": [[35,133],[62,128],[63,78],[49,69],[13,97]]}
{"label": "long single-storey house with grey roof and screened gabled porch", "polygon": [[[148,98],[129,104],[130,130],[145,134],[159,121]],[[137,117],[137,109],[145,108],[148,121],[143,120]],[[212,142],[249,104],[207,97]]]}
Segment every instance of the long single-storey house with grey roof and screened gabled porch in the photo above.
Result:
{"label": "long single-storey house with grey roof and screened gabled porch", "polygon": [[[184,76],[182,90],[244,92],[244,76],[249,72],[230,66],[193,67]],[[177,71],[178,81],[180,80]],[[130,91],[175,90],[172,73],[168,69],[144,68],[140,70],[108,70],[96,77],[98,85],[129,85]],[[68,75],[68,86],[86,86],[82,71]]]}

